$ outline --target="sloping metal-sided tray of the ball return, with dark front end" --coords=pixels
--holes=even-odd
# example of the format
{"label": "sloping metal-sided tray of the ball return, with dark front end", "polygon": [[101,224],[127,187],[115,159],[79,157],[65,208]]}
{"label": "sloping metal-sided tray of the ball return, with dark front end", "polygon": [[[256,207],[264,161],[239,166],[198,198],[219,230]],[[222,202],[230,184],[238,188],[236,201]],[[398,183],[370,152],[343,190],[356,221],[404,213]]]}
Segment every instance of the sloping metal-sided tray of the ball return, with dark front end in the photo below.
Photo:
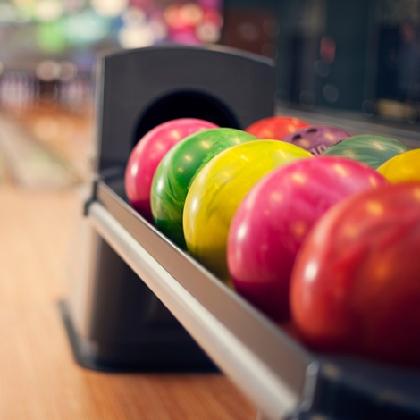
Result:
{"label": "sloping metal-sided tray of the ball return, with dark front end", "polygon": [[303,347],[128,204],[123,168],[85,215],[264,419],[420,419],[420,372]]}

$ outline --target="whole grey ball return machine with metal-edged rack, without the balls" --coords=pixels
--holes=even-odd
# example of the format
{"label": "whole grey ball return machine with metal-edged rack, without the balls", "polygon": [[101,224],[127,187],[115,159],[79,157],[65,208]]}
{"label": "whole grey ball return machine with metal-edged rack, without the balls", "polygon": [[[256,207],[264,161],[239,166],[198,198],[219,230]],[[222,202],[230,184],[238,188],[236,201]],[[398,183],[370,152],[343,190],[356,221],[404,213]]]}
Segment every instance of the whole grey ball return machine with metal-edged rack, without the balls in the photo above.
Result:
{"label": "whole grey ball return machine with metal-edged rack, without the balls", "polygon": [[60,304],[76,361],[107,372],[222,371],[261,419],[420,418],[420,372],[315,354],[148,223],[124,170],[137,140],[172,118],[247,127],[273,114],[273,63],[222,47],[105,55],[97,162],[80,206],[87,261]]}

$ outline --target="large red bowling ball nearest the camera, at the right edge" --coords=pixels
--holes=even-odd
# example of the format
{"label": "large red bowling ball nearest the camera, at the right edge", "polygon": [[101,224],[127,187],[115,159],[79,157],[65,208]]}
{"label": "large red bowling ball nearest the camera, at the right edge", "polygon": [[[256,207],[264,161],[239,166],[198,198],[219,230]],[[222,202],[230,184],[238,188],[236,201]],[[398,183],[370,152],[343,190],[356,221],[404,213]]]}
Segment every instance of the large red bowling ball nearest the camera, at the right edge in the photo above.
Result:
{"label": "large red bowling ball nearest the camera, at the right edge", "polygon": [[290,284],[313,349],[420,367],[420,183],[369,189],[323,215]]}

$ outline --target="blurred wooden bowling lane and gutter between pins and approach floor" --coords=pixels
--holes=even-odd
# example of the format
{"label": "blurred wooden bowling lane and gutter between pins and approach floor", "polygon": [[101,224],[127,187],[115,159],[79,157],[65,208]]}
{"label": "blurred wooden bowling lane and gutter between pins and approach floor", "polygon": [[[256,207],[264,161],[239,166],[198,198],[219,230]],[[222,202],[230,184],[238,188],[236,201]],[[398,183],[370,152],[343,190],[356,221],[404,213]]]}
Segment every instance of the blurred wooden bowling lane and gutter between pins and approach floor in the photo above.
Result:
{"label": "blurred wooden bowling lane and gutter between pins and approach floor", "polygon": [[3,172],[23,188],[63,189],[88,180],[92,119],[63,109],[33,106],[0,113]]}

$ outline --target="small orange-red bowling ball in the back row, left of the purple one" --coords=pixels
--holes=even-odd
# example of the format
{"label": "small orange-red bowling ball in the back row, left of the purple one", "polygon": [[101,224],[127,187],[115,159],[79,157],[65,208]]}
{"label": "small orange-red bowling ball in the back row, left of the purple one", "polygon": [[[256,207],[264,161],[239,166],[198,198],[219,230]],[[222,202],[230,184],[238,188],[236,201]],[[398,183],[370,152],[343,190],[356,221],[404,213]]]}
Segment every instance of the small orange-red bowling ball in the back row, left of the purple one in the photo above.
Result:
{"label": "small orange-red bowling ball in the back row, left of the purple one", "polygon": [[298,118],[273,116],[252,123],[245,131],[258,139],[282,140],[290,133],[308,125],[308,122],[298,120]]}

